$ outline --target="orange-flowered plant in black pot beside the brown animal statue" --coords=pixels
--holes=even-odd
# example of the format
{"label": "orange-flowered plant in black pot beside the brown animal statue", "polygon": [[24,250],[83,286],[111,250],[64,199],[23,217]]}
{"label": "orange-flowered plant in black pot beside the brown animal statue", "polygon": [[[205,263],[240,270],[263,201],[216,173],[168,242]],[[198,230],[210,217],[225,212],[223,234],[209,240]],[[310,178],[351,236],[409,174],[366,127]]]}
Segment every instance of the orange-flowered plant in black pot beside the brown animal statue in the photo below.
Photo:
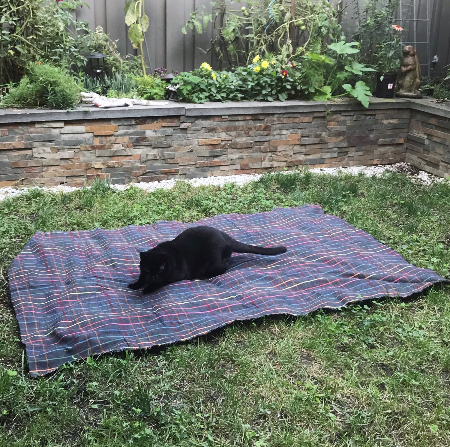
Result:
{"label": "orange-flowered plant in black pot beside the brown animal statue", "polygon": [[403,28],[392,25],[392,31],[388,33],[385,41],[377,45],[377,86],[375,96],[377,98],[393,98],[397,72],[402,59],[401,35]]}

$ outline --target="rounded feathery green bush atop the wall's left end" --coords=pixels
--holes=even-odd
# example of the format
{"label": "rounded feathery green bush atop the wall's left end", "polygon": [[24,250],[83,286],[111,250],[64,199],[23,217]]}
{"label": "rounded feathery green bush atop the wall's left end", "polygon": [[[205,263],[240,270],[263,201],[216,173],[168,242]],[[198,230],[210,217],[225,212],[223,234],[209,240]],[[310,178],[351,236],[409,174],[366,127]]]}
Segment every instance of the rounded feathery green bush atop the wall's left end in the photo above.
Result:
{"label": "rounded feathery green bush atop the wall's left end", "polygon": [[47,63],[27,66],[26,75],[0,101],[1,107],[73,108],[80,99],[81,85],[66,70]]}

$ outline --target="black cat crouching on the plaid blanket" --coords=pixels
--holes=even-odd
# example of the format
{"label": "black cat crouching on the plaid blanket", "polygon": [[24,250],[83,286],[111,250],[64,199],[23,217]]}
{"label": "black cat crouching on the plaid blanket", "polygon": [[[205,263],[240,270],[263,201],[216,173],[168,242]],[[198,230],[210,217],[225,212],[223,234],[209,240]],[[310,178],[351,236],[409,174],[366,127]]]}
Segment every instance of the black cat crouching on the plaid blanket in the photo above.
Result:
{"label": "black cat crouching on the plaid blanket", "polygon": [[128,288],[144,287],[145,294],[176,281],[222,275],[233,252],[275,255],[285,251],[286,247],[243,244],[211,226],[196,226],[184,230],[171,241],[139,253],[139,279]]}

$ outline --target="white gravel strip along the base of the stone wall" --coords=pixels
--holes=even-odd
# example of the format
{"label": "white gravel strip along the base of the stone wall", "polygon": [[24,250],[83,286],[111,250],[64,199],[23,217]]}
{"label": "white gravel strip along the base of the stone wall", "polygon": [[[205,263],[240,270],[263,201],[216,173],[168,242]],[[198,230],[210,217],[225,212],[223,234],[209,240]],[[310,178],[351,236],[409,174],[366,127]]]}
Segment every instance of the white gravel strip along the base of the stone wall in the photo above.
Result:
{"label": "white gravel strip along the base of the stone wall", "polygon": [[[366,176],[380,176],[383,172],[387,171],[400,171],[400,172],[410,172],[416,171],[413,167],[411,167],[408,163],[396,163],[393,165],[376,165],[376,166],[353,166],[353,167],[318,167],[310,169],[311,172],[315,174],[332,174],[338,175],[340,172],[358,175],[360,172],[365,174]],[[283,173],[288,173],[289,171],[282,171]],[[425,171],[419,171],[418,173],[408,174],[412,178],[416,179],[423,185],[430,185],[436,181],[443,181],[444,179],[441,177],[433,176],[432,174],[428,174]],[[139,183],[130,183],[127,185],[111,185],[111,187],[118,191],[124,191],[128,189],[131,185],[134,185],[137,188],[141,188],[146,191],[154,191],[160,188],[169,190],[175,186],[175,183],[179,180],[184,180],[190,183],[193,186],[203,186],[203,185],[216,185],[222,186],[225,183],[235,183],[236,185],[245,185],[251,181],[258,180],[262,174],[241,174],[236,176],[214,176],[214,177],[202,177],[198,179],[171,179],[171,180],[162,180],[162,181],[153,181],[149,183],[139,182]],[[0,201],[6,199],[7,197],[15,197],[20,194],[26,193],[31,189],[40,189],[44,191],[50,191],[54,193],[60,192],[72,192],[74,190],[81,189],[82,187],[75,186],[66,186],[66,185],[58,185],[52,187],[45,186],[31,186],[31,187],[22,187],[22,188],[14,188],[12,186],[6,188],[0,188]],[[86,186],[86,188],[90,188],[90,186]]]}

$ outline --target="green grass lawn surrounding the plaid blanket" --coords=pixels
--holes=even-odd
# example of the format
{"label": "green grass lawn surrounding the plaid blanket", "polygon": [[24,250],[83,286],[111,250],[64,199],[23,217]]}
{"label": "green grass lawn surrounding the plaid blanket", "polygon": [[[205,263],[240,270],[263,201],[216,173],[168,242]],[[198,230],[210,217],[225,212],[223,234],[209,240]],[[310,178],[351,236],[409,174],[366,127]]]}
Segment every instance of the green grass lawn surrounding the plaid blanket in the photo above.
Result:
{"label": "green grass lawn surrounding the plaid blanket", "polygon": [[37,231],[195,221],[317,203],[449,277],[450,182],[263,176],[242,188],[49,194],[0,203],[0,446],[449,446],[450,287],[239,322],[31,379],[6,270]]}

